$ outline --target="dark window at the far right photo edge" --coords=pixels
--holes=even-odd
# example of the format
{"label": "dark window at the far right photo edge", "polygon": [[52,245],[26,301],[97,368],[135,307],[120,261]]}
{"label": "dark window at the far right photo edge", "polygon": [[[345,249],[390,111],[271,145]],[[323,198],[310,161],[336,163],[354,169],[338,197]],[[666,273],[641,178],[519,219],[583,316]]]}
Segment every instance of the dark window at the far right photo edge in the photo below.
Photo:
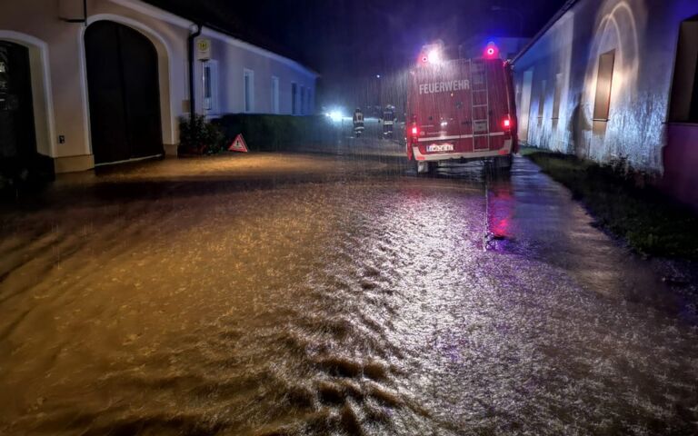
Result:
{"label": "dark window at the far right photo edge", "polygon": [[679,28],[669,121],[698,123],[698,15]]}

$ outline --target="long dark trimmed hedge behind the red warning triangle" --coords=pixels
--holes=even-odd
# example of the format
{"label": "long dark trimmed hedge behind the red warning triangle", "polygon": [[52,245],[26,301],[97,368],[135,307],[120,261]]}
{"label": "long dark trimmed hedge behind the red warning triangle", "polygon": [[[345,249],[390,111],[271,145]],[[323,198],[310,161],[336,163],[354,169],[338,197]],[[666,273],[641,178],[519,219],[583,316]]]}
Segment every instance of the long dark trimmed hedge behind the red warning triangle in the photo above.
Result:
{"label": "long dark trimmed hedge behind the red warning triangle", "polygon": [[227,114],[214,120],[224,133],[225,144],[243,134],[251,151],[290,151],[307,144],[326,144],[336,135],[322,115]]}

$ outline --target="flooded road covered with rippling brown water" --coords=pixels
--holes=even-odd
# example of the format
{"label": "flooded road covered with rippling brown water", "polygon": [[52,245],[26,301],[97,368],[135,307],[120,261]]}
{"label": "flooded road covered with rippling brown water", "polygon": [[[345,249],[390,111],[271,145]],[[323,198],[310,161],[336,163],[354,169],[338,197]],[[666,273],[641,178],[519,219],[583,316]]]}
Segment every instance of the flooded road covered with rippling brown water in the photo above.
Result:
{"label": "flooded road covered with rippling brown water", "polygon": [[0,433],[698,431],[694,313],[562,187],[351,150],[3,213]]}

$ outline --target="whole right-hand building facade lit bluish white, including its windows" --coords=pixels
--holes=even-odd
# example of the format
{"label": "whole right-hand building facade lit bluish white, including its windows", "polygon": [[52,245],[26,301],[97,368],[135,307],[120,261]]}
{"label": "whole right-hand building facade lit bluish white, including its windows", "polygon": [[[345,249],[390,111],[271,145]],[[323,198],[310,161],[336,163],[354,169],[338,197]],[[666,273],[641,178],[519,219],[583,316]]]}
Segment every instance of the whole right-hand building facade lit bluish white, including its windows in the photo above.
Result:
{"label": "whole right-hand building facade lit bluish white, including its windows", "polygon": [[514,58],[524,143],[661,176],[698,205],[698,2],[570,0]]}

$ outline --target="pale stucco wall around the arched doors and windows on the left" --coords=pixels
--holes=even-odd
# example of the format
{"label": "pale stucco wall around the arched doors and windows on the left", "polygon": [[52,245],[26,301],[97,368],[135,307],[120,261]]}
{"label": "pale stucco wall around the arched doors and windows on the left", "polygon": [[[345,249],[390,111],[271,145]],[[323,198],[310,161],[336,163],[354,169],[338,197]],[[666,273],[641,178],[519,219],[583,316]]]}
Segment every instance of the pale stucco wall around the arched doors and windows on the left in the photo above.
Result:
{"label": "pale stucco wall around the arched doors and windows on the left", "polygon": [[[61,0],[64,1],[64,0]],[[70,3],[70,0],[65,0]],[[80,4],[81,2],[77,2]],[[64,3],[65,5],[65,3]],[[77,8],[79,11],[80,8]],[[145,35],[158,54],[163,142],[176,144],[177,117],[188,110],[186,37],[191,23],[153,6],[134,0],[88,0],[88,25],[110,20],[128,25]],[[58,158],[57,171],[93,166],[89,132],[89,107],[85,76],[85,25],[59,19],[59,0],[3,2],[0,39],[30,48],[32,74],[45,72],[45,95],[35,95],[38,111],[37,149]],[[218,101],[220,113],[243,111],[243,70],[255,74],[255,111],[271,112],[271,76],[279,77],[280,110],[291,113],[291,82],[313,89],[316,74],[294,61],[259,49],[226,35],[204,29],[213,41],[214,59],[219,61]],[[42,58],[45,56],[45,59]],[[194,87],[197,112],[203,112],[201,64],[196,63]],[[39,77],[40,79],[40,77]],[[38,80],[38,79],[37,79]],[[41,81],[39,80],[39,83]],[[34,86],[35,93],[42,89]],[[42,86],[43,88],[43,86]],[[65,138],[58,144],[58,136]]]}

